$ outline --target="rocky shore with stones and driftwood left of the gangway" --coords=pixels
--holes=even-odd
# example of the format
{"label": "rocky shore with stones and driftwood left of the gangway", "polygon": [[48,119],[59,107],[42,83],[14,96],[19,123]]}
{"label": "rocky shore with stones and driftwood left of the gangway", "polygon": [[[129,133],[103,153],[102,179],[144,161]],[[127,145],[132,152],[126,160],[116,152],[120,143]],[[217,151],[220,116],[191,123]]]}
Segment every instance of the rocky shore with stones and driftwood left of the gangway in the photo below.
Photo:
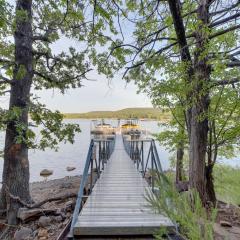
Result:
{"label": "rocky shore with stones and driftwood left of the gangway", "polygon": [[17,227],[9,227],[0,219],[0,240],[56,240],[70,221],[75,206],[76,198],[66,196],[77,194],[80,180],[81,176],[74,176],[31,183],[35,203],[52,197],[65,197],[45,203],[39,207],[40,211],[26,209],[21,215],[24,221]]}

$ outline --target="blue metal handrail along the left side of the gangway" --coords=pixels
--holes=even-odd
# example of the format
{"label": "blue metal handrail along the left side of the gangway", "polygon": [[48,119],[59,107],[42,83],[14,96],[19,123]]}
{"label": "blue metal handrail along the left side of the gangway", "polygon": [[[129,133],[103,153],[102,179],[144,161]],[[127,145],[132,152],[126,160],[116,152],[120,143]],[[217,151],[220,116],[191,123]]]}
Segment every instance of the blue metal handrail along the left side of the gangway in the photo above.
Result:
{"label": "blue metal handrail along the left side of the gangway", "polygon": [[[97,178],[100,177],[102,170],[104,170],[104,166],[107,163],[107,160],[110,158],[115,146],[115,137],[112,140],[94,140],[92,139],[89,144],[87,159],[85,162],[83,175],[81,178],[81,183],[77,195],[76,205],[72,216],[72,222],[70,227],[70,232],[68,235],[69,239],[73,238],[73,227],[77,222],[78,215],[82,209],[82,201],[84,188],[86,187],[89,179],[90,172],[90,193],[93,189],[95,182],[93,181],[93,165],[95,163],[95,167],[97,170]],[[98,153],[97,153],[98,151]],[[90,194],[89,193],[89,194]]]}

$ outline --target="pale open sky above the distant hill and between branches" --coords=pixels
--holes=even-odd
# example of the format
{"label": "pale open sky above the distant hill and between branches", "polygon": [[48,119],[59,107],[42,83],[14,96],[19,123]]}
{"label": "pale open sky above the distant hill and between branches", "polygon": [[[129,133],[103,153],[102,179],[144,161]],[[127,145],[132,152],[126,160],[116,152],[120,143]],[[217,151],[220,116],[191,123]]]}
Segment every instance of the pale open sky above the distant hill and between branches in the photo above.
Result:
{"label": "pale open sky above the distant hill and between branches", "polygon": [[[15,5],[15,1],[9,0]],[[132,29],[129,25],[123,29],[125,37]],[[62,38],[52,45],[53,52],[61,52],[73,46],[81,50],[81,45],[76,40]],[[55,90],[34,91],[40,97],[40,102],[46,104],[51,110],[60,110],[64,113],[88,112],[98,110],[119,110],[127,107],[152,107],[150,99],[145,94],[137,94],[137,86],[133,83],[126,85],[121,75],[116,75],[111,83],[103,75],[98,75],[95,70],[88,74],[89,79],[83,80],[84,87],[68,90],[65,95]],[[8,98],[0,98],[0,105],[7,107]]]}

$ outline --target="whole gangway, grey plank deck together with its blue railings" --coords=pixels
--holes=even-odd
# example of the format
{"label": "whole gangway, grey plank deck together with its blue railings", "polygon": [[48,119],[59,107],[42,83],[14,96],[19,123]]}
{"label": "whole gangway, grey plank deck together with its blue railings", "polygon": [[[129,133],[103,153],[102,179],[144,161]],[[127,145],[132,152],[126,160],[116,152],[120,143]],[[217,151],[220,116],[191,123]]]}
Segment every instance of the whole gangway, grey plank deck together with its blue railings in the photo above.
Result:
{"label": "whole gangway, grey plank deck together with its blue railings", "polygon": [[[91,142],[94,146],[94,141]],[[108,156],[95,160],[98,178],[82,206],[84,182],[73,215],[71,234],[74,239],[96,236],[150,236],[164,226],[175,229],[172,221],[153,212],[146,194],[154,191],[154,179],[145,180],[147,166],[161,171],[161,164],[154,141],[144,162],[143,141],[127,141],[117,134],[105,143]],[[102,147],[102,146],[101,146]],[[136,158],[136,152],[138,158]],[[135,154],[135,155],[134,155]],[[91,152],[88,154],[84,173],[93,168]],[[101,174],[100,174],[101,172]],[[85,176],[86,178],[86,176]],[[84,179],[84,176],[83,176]]]}

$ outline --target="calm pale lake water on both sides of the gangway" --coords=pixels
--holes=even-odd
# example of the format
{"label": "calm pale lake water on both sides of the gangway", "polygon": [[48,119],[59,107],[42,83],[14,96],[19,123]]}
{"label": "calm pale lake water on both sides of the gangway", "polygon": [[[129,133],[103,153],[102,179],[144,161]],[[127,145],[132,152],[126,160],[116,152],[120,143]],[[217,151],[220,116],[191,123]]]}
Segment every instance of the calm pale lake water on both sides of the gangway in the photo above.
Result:
{"label": "calm pale lake water on both sides of the gangway", "polygon": [[[30,150],[30,181],[41,181],[43,178],[39,175],[40,171],[44,168],[53,170],[53,175],[48,179],[62,178],[65,176],[74,176],[82,173],[87,151],[90,142],[90,120],[72,119],[66,120],[66,122],[78,123],[82,132],[76,135],[74,144],[59,145],[58,152],[47,149],[45,151]],[[116,120],[108,120],[107,123],[111,123],[117,126]],[[158,126],[157,121],[140,121],[143,129],[150,131],[151,133],[158,133],[161,131],[161,127]],[[4,134],[0,133],[0,147],[4,145]],[[164,147],[159,146],[157,143],[159,157],[164,170],[169,169],[169,157],[172,153],[169,153]],[[232,166],[240,166],[240,158],[234,159],[219,159],[220,162],[226,163]],[[76,167],[72,172],[67,172],[66,167]],[[2,174],[3,160],[0,159],[0,175]]]}

